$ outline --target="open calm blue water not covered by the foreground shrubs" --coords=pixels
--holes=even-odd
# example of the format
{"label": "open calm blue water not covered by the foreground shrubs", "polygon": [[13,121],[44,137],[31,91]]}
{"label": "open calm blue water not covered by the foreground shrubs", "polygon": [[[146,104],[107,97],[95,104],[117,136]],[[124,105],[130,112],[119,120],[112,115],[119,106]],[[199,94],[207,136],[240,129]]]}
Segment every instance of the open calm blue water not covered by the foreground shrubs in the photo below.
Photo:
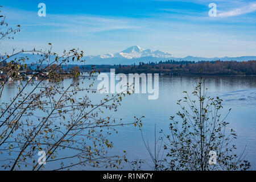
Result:
{"label": "open calm blue water not covered by the foreground shrubs", "polygon": [[[256,76],[207,76],[206,78],[209,95],[218,96],[224,100],[223,112],[232,108],[227,121],[238,134],[237,152],[241,152],[246,146],[246,159],[249,160],[252,168],[256,169]],[[69,82],[70,80],[64,80],[63,84]],[[176,101],[183,98],[183,91],[191,93],[193,84],[195,84],[195,76],[159,77],[158,100],[148,100],[147,94],[132,94],[123,98],[122,106],[117,113],[110,115],[112,118],[122,118],[123,122],[133,122],[134,116],[144,116],[143,135],[152,143],[155,125],[157,131],[163,129],[164,133],[168,134],[169,118],[179,111]],[[15,86],[10,84],[6,88],[6,96],[14,94],[14,89]],[[109,140],[114,142],[114,148],[110,154],[123,154],[123,150],[126,150],[129,160],[138,158],[151,162],[138,128],[118,127],[118,134],[113,134]],[[143,169],[151,169],[147,164],[143,167]],[[51,167],[48,166],[48,169]],[[85,168],[77,167],[76,169]],[[126,166],[125,169],[131,168]]]}

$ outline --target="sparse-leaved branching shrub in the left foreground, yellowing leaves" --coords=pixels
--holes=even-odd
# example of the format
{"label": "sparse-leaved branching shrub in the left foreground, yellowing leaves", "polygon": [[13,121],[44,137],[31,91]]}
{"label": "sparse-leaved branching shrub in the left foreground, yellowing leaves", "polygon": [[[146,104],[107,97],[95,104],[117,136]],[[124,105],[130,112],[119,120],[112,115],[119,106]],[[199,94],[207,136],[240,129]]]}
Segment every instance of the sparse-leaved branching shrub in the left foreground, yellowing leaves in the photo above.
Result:
{"label": "sparse-leaved branching shrub in the left foreground, yellowing leaves", "polygon": [[[0,16],[1,26],[7,26],[5,16]],[[0,40],[10,38],[19,31],[18,28],[7,28],[1,32]],[[2,46],[2,45],[1,45]],[[97,92],[94,88],[94,77],[98,73],[92,69],[89,77],[81,77],[79,69],[72,69],[75,78],[67,85],[63,84],[63,67],[70,61],[84,62],[83,51],[71,49],[61,55],[52,51],[49,43],[47,50],[20,50],[0,57],[0,155],[4,169],[40,170],[55,163],[53,169],[69,169],[71,167],[122,167],[123,156],[109,156],[108,151],[114,144],[108,136],[117,133],[117,126],[141,126],[141,119],[134,118],[130,123],[117,121],[106,116],[104,111],[117,111],[122,97],[129,92],[106,95],[93,100]],[[22,53],[40,56],[27,65],[28,57]],[[15,81],[15,96],[8,100],[3,98],[5,87],[10,78],[31,67],[37,67],[46,75],[35,80],[36,75],[28,80]],[[46,152],[46,166],[38,162],[38,152]]]}

